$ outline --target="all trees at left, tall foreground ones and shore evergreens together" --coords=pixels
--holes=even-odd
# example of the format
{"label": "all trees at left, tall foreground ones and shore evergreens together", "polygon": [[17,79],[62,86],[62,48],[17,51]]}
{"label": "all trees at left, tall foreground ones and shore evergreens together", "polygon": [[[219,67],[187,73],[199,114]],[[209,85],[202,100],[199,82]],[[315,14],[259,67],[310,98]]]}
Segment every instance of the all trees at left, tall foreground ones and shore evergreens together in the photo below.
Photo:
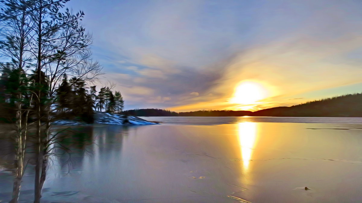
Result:
{"label": "all trees at left, tall foreground ones and shore evergreens together", "polygon": [[[40,202],[48,161],[64,148],[53,121],[74,118],[93,121],[95,109],[121,112],[123,99],[114,85],[96,92],[102,74],[92,60],[90,35],[82,11],[65,7],[69,0],[0,1],[0,117],[13,126],[14,185],[17,202],[28,141],[34,143],[34,202]],[[68,79],[69,78],[69,79]]]}

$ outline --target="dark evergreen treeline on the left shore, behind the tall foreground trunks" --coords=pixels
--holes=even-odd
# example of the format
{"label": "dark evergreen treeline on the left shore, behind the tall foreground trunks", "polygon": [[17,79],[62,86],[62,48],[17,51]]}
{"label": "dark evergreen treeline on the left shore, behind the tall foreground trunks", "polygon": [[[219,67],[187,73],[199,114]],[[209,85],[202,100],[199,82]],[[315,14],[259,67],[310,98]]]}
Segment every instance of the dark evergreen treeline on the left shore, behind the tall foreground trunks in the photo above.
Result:
{"label": "dark evergreen treeline on the left shore, behind the tall foreground trunks", "polygon": [[[34,78],[36,73],[21,73],[9,67],[0,70],[0,122],[16,123],[17,108],[22,109],[22,122],[33,122],[36,120],[36,104],[34,98]],[[20,78],[20,79],[19,79]],[[72,77],[68,79],[66,73],[63,80],[55,88],[55,94],[50,98],[49,77],[42,72],[42,99],[41,111],[46,112],[42,122],[46,122],[45,116],[50,121],[59,119],[70,119],[93,123],[94,110],[109,113],[120,113],[124,107],[121,92],[113,91],[112,86],[101,87],[97,94],[96,86],[87,86],[84,79]],[[18,116],[19,117],[19,116]]]}

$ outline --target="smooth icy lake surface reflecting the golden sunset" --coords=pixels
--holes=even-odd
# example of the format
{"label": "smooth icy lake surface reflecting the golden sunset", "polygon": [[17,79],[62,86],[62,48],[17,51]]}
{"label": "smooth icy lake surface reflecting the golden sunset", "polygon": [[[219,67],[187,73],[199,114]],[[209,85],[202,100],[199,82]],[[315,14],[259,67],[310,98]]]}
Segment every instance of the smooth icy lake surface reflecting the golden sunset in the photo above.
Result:
{"label": "smooth icy lake surface reflecting the golden sunset", "polygon": [[[362,202],[361,118],[144,118],[162,125],[67,133],[42,202]],[[29,167],[23,202],[33,186]]]}

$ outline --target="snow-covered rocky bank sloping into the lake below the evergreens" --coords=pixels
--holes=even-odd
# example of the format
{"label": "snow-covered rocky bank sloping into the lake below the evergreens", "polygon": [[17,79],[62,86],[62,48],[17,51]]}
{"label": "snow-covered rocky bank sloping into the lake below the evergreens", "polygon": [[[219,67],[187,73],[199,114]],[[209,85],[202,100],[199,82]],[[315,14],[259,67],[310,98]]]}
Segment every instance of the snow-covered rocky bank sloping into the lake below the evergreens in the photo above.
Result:
{"label": "snow-covered rocky bank sloping into the lake below the evergreens", "polygon": [[[58,120],[53,122],[54,125],[90,125],[80,121]],[[113,113],[94,113],[94,124],[104,125],[157,125],[157,123],[146,121],[136,116],[124,116]]]}

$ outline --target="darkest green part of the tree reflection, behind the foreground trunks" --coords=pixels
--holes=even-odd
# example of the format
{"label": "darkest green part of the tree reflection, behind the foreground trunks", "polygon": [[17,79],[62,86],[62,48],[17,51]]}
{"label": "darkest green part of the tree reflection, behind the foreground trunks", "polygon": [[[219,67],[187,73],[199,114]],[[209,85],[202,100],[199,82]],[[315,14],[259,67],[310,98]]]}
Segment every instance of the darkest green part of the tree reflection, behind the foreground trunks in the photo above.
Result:
{"label": "darkest green part of the tree reflection, behind the foreground trunks", "polygon": [[[93,143],[93,126],[73,129],[55,129],[54,132],[52,132],[54,142],[50,142],[51,144],[47,146],[41,146],[43,150],[40,154],[36,153],[39,145],[34,139],[34,132],[29,133],[30,139],[28,139],[26,148],[24,148],[23,155],[18,153],[18,148],[21,143],[18,139],[14,139],[13,134],[15,134],[13,130],[7,129],[2,133],[0,138],[0,170],[9,171],[14,176],[13,198],[10,202],[18,201],[21,187],[20,183],[22,182],[25,168],[27,168],[28,165],[42,169],[39,180],[39,191],[41,192],[46,180],[46,171],[55,161],[63,167],[71,167],[72,163],[79,163],[81,161],[80,157],[86,154],[92,154],[89,146]],[[22,162],[25,164],[19,164],[19,160],[24,160]],[[42,161],[37,162],[37,160]],[[34,191],[34,193],[36,192],[37,191]]]}

